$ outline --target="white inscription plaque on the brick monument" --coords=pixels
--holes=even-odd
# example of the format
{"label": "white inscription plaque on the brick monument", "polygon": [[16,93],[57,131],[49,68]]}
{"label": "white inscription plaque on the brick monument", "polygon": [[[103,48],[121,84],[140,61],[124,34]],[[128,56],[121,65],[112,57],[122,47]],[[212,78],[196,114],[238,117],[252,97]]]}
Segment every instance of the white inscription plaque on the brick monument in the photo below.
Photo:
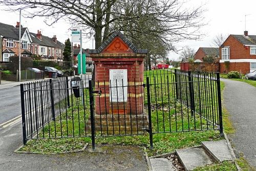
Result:
{"label": "white inscription plaque on the brick monument", "polygon": [[110,101],[127,102],[127,70],[110,70]]}

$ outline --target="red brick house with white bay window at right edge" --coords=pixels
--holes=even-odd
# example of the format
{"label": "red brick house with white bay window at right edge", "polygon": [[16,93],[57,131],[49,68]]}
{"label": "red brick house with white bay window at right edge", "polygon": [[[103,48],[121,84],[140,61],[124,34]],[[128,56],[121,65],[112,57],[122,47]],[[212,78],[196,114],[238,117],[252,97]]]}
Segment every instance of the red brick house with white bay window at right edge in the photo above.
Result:
{"label": "red brick house with white bay window at right edge", "polygon": [[220,72],[230,71],[246,74],[256,70],[256,35],[230,34],[219,48],[220,51]]}

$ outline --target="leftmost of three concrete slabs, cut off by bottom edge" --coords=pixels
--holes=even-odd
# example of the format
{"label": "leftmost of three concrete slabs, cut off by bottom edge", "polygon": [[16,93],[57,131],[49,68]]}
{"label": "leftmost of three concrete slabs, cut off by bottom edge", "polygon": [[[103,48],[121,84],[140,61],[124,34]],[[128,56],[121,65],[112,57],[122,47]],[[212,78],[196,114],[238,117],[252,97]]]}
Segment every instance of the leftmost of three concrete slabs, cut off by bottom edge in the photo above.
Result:
{"label": "leftmost of three concrete slabs, cut off by bottom edge", "polygon": [[175,171],[175,167],[168,159],[152,158],[150,159],[153,171]]}

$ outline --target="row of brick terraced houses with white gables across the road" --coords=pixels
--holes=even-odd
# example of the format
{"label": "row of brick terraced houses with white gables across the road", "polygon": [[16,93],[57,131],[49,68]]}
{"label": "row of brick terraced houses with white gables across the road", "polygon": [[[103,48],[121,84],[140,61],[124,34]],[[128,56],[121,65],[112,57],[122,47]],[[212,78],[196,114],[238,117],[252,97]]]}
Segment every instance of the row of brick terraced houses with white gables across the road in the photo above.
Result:
{"label": "row of brick terraced houses with white gables across the road", "polygon": [[[44,36],[38,30],[37,34],[29,32],[28,28],[21,28],[22,56],[35,54],[41,59],[62,61],[62,51],[65,48],[56,36]],[[9,61],[10,56],[19,55],[19,22],[16,26],[0,23],[1,55],[0,61]]]}

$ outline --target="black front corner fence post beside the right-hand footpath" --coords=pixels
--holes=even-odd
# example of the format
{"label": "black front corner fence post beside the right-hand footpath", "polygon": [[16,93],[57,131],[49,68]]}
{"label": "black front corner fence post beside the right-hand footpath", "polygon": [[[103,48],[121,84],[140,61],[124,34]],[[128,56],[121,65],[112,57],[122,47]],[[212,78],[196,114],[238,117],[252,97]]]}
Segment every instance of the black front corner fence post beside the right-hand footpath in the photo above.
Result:
{"label": "black front corner fence post beside the right-hand footpath", "polygon": [[217,73],[217,92],[218,92],[218,106],[219,106],[218,109],[219,109],[220,136],[223,137],[220,73]]}

